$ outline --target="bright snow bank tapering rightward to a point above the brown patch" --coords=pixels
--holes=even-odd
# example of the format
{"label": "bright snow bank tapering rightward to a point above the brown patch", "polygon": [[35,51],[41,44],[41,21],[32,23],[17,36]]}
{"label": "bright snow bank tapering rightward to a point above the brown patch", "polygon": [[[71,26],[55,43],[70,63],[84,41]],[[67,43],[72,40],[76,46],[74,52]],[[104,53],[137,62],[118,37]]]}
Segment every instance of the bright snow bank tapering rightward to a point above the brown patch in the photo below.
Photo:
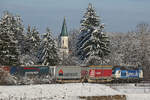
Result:
{"label": "bright snow bank tapering rightward to a point above the brown patch", "polygon": [[[3,98],[45,98],[50,100],[77,100],[79,96],[104,96],[122,94],[100,84],[50,84],[25,86],[0,86],[0,99]],[[42,99],[42,100],[43,100]]]}

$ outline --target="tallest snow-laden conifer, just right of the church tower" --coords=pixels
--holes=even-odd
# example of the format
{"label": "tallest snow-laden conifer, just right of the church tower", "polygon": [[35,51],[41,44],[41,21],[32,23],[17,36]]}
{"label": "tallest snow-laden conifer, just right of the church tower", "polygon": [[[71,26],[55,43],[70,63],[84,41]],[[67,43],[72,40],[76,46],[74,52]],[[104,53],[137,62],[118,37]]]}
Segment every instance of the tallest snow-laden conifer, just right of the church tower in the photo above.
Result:
{"label": "tallest snow-laden conifer, just right of the church tower", "polygon": [[[77,55],[87,64],[102,64],[109,51],[109,40],[103,32],[104,25],[96,15],[92,4],[81,20],[80,35],[77,42]],[[102,62],[100,62],[102,61]]]}

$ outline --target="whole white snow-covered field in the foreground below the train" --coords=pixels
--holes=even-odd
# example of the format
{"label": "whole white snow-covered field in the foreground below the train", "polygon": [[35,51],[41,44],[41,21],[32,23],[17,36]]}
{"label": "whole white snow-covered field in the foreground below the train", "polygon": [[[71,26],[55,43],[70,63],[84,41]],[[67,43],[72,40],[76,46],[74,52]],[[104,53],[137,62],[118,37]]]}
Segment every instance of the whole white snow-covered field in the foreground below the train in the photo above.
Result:
{"label": "whole white snow-covered field in the foreground below the train", "polygon": [[127,100],[150,100],[150,87],[68,83],[0,86],[0,100],[79,100],[79,96],[126,95]]}

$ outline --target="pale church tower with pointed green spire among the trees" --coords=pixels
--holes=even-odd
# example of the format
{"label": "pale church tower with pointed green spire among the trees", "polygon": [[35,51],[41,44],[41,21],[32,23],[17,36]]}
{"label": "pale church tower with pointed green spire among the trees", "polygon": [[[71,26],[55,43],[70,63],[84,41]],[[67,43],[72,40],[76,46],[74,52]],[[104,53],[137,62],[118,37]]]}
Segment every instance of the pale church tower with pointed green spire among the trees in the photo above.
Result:
{"label": "pale church tower with pointed green spire among the trees", "polygon": [[66,19],[64,18],[61,34],[59,36],[59,48],[60,52],[66,55],[69,53],[68,41]]}

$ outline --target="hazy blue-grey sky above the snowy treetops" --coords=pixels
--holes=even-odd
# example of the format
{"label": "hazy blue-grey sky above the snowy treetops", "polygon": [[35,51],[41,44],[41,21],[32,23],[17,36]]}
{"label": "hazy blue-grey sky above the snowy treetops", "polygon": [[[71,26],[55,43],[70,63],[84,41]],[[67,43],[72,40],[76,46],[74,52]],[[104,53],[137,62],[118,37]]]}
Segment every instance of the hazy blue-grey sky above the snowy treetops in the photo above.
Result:
{"label": "hazy blue-grey sky above the snowy treetops", "polygon": [[0,0],[0,15],[8,10],[22,17],[23,24],[40,32],[49,27],[60,33],[64,16],[68,30],[78,29],[88,3],[105,23],[107,32],[134,30],[142,22],[150,24],[150,0]]}

